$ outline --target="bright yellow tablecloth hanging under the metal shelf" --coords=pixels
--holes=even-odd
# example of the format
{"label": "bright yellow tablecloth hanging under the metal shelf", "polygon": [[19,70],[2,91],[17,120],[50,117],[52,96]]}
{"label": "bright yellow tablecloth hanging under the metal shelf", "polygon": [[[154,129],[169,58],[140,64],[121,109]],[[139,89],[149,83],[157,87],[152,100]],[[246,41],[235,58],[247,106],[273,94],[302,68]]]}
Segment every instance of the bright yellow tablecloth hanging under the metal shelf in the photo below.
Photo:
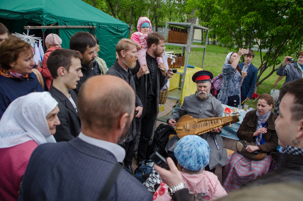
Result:
{"label": "bright yellow tablecloth hanging under the metal shelf", "polygon": [[[184,67],[177,68],[177,70],[178,70],[178,72],[183,73]],[[193,74],[195,74],[196,72],[198,72],[200,70],[202,70],[202,69],[198,68],[198,67],[186,69],[185,82],[184,82],[183,90],[181,92],[181,97],[180,97],[181,103],[183,102],[185,96],[195,94],[195,92],[197,90],[197,85],[196,85],[196,83],[194,83],[191,80],[191,77],[193,76]],[[168,90],[173,90],[175,88],[178,88],[179,81],[180,81],[180,75],[175,73],[174,76],[169,79],[169,89]]]}

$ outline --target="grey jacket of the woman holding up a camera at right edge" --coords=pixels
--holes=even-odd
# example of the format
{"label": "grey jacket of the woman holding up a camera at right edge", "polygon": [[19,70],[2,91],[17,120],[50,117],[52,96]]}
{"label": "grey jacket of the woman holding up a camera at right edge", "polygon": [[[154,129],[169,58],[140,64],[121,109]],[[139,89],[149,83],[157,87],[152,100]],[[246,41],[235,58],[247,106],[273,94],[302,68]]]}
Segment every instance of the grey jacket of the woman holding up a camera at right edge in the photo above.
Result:
{"label": "grey jacket of the woman holding up a camera at right edge", "polygon": [[282,64],[277,68],[276,73],[279,76],[286,75],[284,84],[302,78],[302,73],[297,66],[297,62],[289,63],[284,68],[281,68],[281,66]]}

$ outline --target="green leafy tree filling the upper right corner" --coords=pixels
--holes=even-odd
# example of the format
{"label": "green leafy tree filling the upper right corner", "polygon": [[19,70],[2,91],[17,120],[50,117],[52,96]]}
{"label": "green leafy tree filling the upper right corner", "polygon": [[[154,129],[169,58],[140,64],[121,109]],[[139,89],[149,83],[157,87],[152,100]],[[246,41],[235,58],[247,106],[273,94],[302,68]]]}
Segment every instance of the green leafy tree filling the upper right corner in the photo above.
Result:
{"label": "green leafy tree filling the upper right corner", "polygon": [[[303,45],[303,1],[301,0],[188,0],[187,10],[202,26],[216,35],[221,46],[237,51],[258,46],[260,53],[258,80],[268,67],[271,71],[258,84],[275,72],[279,56],[298,53]],[[236,47],[236,48],[235,48]]]}

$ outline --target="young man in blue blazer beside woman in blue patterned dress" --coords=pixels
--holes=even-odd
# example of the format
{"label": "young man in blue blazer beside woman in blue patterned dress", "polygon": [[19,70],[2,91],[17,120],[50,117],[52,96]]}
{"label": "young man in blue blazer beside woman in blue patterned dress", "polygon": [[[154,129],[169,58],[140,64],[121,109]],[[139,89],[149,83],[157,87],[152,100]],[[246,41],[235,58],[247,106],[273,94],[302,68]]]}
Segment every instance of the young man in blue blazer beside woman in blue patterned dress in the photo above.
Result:
{"label": "young man in blue blazer beside woman in blue patterned dress", "polygon": [[251,60],[255,57],[255,52],[251,49],[247,49],[247,53],[244,54],[245,62],[239,63],[239,67],[242,70],[242,77],[244,77],[243,73],[247,72],[247,76],[244,77],[242,86],[241,86],[241,102],[244,100],[248,100],[252,97],[254,93],[258,69],[251,63]]}

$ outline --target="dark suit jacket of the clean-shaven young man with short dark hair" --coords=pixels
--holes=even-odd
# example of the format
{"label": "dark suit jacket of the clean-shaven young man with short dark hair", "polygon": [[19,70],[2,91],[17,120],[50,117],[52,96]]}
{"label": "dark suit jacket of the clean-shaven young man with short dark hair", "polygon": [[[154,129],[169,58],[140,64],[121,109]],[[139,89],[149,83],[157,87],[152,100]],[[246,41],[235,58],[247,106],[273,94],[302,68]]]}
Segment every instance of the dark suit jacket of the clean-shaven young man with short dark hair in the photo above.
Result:
{"label": "dark suit jacket of the clean-shaven young man with short dark hair", "polygon": [[[59,113],[58,118],[60,125],[56,127],[56,133],[54,135],[57,142],[68,141],[77,137],[81,131],[81,123],[78,113],[73,107],[71,101],[58,89],[51,86],[48,91],[53,98],[58,101]],[[77,102],[77,94],[74,90],[69,89],[74,102]]]}

